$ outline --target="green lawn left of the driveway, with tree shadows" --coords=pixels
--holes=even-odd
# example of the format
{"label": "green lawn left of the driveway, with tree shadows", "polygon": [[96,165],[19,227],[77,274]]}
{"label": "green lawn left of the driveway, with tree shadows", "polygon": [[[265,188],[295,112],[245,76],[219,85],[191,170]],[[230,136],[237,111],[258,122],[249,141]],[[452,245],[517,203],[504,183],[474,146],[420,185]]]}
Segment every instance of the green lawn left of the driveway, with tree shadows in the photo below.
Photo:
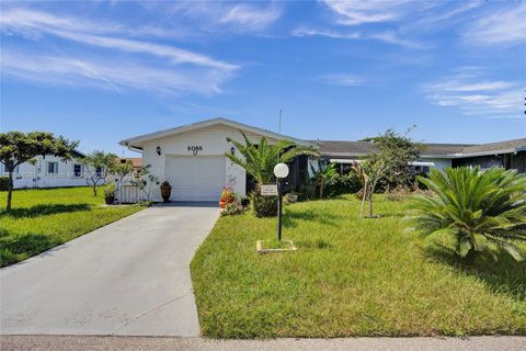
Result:
{"label": "green lawn left of the driveway, with tree shadows", "polygon": [[89,188],[16,190],[13,208],[0,192],[0,267],[25,260],[57,245],[141,210],[105,206],[104,192]]}

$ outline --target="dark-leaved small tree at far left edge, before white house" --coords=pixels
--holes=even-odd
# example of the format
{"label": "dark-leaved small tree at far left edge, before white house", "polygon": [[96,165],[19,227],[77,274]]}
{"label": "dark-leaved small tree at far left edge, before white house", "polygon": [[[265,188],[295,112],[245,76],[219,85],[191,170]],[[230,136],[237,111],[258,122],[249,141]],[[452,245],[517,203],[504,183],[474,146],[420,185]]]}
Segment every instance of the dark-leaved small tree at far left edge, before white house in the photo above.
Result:
{"label": "dark-leaved small tree at far left edge, before white house", "polygon": [[23,162],[34,163],[38,155],[54,155],[64,161],[71,159],[71,154],[79,141],[69,141],[62,136],[55,137],[46,132],[8,132],[0,133],[0,162],[9,173],[8,202],[5,210],[11,210],[13,193],[13,172]]}

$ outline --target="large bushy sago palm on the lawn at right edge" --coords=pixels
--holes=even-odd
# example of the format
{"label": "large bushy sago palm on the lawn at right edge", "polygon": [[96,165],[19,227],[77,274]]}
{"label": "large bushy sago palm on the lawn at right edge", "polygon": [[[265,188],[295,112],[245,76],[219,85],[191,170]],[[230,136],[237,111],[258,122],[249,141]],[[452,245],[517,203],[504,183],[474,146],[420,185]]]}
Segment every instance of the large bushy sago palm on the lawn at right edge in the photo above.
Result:
{"label": "large bushy sago palm on the lawn at right edge", "polygon": [[[405,217],[411,229],[425,236],[445,234],[455,238],[461,258],[499,247],[515,260],[526,257],[517,246],[526,241],[526,178],[515,170],[446,168],[431,171],[419,181],[433,196],[415,196]],[[493,257],[495,257],[493,254]]]}

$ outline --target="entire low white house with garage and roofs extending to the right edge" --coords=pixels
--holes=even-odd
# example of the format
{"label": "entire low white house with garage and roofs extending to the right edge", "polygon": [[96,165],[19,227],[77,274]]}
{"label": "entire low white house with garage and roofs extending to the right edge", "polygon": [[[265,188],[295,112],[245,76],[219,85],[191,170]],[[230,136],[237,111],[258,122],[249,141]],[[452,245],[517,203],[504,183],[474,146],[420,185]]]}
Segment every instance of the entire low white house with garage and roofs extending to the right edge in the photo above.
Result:
{"label": "entire low white house with garage and roofs extending to the right edge", "polygon": [[[214,118],[172,129],[160,131],[122,140],[119,144],[142,152],[142,165],[151,165],[150,172],[159,182],[172,185],[172,201],[217,201],[224,186],[231,186],[241,196],[253,188],[251,177],[244,169],[232,163],[225,152],[237,152],[227,137],[242,141],[240,131],[252,143],[262,136],[268,141],[282,139],[298,145],[317,146],[321,162],[307,156],[296,158],[290,165],[288,182],[293,189],[309,178],[312,167],[323,162],[336,162],[342,172],[348,171],[351,162],[361,160],[375,151],[368,141],[300,140],[274,132],[261,129],[226,118]],[[485,145],[425,144],[425,151],[413,162],[415,171],[426,173],[431,167],[444,169],[461,165],[488,165],[515,168],[525,172],[526,139]],[[501,163],[498,162],[501,160]],[[155,184],[151,200],[160,201],[160,189]]]}

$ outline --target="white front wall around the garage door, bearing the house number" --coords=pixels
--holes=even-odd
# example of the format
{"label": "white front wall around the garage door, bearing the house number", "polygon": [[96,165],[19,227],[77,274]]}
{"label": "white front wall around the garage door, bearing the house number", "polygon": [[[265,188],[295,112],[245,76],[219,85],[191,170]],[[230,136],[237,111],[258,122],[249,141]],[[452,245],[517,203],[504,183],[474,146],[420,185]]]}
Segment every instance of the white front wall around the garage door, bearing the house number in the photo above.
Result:
{"label": "white front wall around the garage door, bearing the house number", "polygon": [[[252,143],[259,143],[261,138],[260,135],[245,134]],[[225,125],[214,125],[148,140],[142,145],[142,165],[151,165],[151,174],[158,177],[159,182],[162,182],[168,178],[165,173],[167,157],[186,156],[198,158],[203,156],[224,156],[225,152],[230,152],[232,147],[227,141],[227,137],[244,143],[238,129]],[[268,141],[275,143],[276,140],[268,139]],[[158,146],[161,148],[161,155],[157,154]],[[188,151],[188,146],[202,146],[203,150],[194,156],[192,150]],[[239,151],[237,152],[239,156]],[[231,186],[238,195],[244,196],[247,189],[247,173],[244,169],[235,165],[226,157],[225,162],[225,185]],[[203,174],[203,177],[206,177],[206,174]],[[158,184],[155,184],[151,189],[151,200],[161,201]]]}

